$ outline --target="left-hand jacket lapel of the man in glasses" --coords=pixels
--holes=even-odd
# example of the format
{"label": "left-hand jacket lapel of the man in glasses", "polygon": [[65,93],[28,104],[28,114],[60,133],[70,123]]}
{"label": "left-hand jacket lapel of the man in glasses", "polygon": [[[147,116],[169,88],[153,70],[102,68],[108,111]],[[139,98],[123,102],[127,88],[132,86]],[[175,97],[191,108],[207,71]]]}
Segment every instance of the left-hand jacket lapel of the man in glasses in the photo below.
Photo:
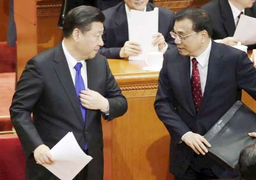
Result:
{"label": "left-hand jacket lapel of the man in glasses", "polygon": [[192,91],[191,91],[191,82],[190,82],[190,59],[188,56],[181,56],[180,62],[180,84],[184,94],[184,98],[188,107],[188,112],[191,116],[196,116],[195,103],[193,101]]}

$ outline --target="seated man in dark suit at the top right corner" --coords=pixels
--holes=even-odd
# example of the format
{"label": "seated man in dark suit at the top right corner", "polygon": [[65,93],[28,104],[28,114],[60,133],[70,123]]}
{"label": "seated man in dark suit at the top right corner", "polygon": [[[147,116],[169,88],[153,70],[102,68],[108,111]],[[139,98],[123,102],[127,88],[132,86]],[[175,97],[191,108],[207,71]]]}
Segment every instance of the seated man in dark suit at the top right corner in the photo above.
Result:
{"label": "seated man in dark suit at the top right corner", "polygon": [[214,22],[212,38],[226,45],[237,45],[233,36],[241,12],[256,18],[256,4],[253,0],[212,0],[202,8],[208,11]]}

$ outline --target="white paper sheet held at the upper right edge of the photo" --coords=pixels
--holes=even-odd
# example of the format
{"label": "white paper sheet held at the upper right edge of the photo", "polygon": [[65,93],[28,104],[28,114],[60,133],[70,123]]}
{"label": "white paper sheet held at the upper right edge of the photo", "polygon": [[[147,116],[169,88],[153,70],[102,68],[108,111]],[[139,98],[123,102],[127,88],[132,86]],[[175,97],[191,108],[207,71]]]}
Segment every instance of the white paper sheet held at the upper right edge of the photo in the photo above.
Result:
{"label": "white paper sheet held at the upper right edge of the photo", "polygon": [[241,15],[236,27],[234,39],[237,41],[245,41],[244,45],[252,45],[256,43],[256,19]]}

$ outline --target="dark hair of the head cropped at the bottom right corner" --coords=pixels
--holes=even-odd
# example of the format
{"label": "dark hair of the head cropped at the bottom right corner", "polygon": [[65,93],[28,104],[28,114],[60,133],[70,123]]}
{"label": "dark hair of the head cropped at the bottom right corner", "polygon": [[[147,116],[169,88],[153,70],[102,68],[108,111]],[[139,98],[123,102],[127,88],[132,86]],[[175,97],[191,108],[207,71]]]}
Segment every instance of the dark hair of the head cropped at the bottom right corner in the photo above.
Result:
{"label": "dark hair of the head cropped at the bottom right corner", "polygon": [[238,165],[244,180],[256,179],[256,144],[247,146],[241,151]]}

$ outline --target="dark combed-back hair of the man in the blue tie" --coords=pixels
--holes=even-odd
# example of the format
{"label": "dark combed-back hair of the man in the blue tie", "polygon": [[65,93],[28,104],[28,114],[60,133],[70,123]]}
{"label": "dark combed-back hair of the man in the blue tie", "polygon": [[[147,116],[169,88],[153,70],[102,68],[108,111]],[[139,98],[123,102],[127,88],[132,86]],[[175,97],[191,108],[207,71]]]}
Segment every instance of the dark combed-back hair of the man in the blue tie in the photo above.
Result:
{"label": "dark combed-back hair of the man in the blue tie", "polygon": [[63,24],[63,36],[67,38],[74,29],[78,28],[82,33],[92,29],[93,22],[104,22],[104,14],[92,6],[78,6],[68,11]]}

